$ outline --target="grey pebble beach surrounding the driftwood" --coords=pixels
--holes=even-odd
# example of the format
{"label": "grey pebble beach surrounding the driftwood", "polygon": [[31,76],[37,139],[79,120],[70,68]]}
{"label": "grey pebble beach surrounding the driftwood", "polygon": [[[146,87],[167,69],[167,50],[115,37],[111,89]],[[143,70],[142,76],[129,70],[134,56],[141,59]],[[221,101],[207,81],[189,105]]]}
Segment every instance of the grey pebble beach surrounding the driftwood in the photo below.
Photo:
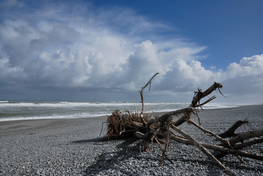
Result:
{"label": "grey pebble beach surrounding the driftwood", "polygon": [[[236,108],[201,110],[201,125],[215,133],[221,133],[236,121],[248,118],[247,130],[263,128],[263,105]],[[177,117],[175,117],[176,119]],[[196,116],[191,119],[198,121]],[[142,142],[132,139],[104,141],[107,117],[68,119],[20,120],[0,122],[0,175],[3,176],[221,176],[206,155],[193,146],[171,142],[168,156],[159,166],[161,150],[153,143],[153,150],[142,153]],[[102,128],[103,125],[103,128]],[[197,140],[207,136],[193,125],[179,126]],[[102,129],[102,134],[101,133]],[[241,126],[237,132],[246,131]],[[214,138],[209,137],[211,141]],[[140,147],[141,146],[141,147]],[[262,151],[257,144],[247,151]],[[222,158],[238,176],[263,175],[263,162],[236,157]]]}

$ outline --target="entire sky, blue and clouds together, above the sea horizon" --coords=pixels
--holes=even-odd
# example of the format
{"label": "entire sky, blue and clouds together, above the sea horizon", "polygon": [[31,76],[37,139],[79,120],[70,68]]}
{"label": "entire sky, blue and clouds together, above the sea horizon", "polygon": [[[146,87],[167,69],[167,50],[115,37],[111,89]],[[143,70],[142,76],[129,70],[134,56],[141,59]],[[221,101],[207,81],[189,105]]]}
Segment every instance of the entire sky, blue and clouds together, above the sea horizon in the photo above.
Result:
{"label": "entire sky, blue and clouds together, above the sea horizon", "polygon": [[263,103],[262,0],[2,0],[0,100]]}

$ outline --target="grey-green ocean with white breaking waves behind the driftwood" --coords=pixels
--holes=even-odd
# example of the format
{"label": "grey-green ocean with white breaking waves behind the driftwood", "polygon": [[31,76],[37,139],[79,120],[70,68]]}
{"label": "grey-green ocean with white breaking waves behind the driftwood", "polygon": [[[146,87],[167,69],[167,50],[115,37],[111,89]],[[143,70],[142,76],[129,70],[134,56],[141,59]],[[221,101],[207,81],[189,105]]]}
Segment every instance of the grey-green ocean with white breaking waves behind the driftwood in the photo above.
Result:
{"label": "grey-green ocean with white breaking waves behind the driftwood", "polygon": [[[145,103],[146,112],[187,108],[190,103]],[[230,108],[244,104],[208,103],[203,109]],[[141,110],[140,102],[0,101],[0,121],[62,119],[110,115],[114,110]]]}

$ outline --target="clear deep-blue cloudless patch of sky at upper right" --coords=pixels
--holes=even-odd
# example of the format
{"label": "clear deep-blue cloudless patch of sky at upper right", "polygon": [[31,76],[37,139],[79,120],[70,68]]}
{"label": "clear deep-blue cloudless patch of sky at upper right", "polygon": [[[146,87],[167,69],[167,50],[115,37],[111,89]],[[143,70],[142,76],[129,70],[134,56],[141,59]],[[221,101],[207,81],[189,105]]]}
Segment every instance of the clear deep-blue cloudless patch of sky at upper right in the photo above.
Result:
{"label": "clear deep-blue cloudless patch of sky at upper right", "polygon": [[[94,1],[98,5],[123,5],[157,22],[175,28],[168,35],[185,37],[207,46],[203,65],[225,69],[231,62],[262,52],[263,2],[255,0]],[[108,2],[108,3],[106,3]],[[229,62],[221,62],[228,58]],[[231,58],[231,59],[230,59]]]}

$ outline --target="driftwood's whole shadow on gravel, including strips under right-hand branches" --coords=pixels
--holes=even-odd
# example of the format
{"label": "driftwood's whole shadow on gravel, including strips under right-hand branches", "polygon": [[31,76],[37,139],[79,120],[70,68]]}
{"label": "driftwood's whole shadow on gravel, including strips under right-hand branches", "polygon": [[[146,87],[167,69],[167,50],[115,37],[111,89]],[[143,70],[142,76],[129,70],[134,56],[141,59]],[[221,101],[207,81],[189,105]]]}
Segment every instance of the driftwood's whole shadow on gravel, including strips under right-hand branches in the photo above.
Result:
{"label": "driftwood's whole shadow on gravel, including strips under right-hand branches", "polygon": [[[87,139],[87,140],[77,140],[72,141],[72,143],[81,144],[81,143],[93,143],[92,145],[102,145],[102,152],[95,156],[95,158],[89,158],[90,162],[88,167],[83,170],[85,176],[90,175],[122,175],[126,174],[130,176],[131,168],[136,168],[132,163],[132,160],[153,160],[153,157],[147,157],[147,155],[142,155],[138,150],[140,148],[140,142],[136,142],[134,139],[125,139],[125,140],[116,140],[116,141],[101,141],[102,137]],[[106,146],[104,146],[106,145]],[[112,145],[112,148],[109,146]],[[108,147],[107,147],[108,146]],[[172,157],[172,160],[180,161],[187,163],[190,166],[190,163],[195,163],[199,167],[206,166],[206,176],[219,176],[222,174],[222,171],[214,164],[211,160],[205,158],[199,159],[184,159],[183,157]],[[223,164],[227,166],[230,170],[243,170],[245,172],[254,171],[255,168],[253,165],[243,165],[241,163],[236,163],[235,161],[226,161],[222,160]],[[238,161],[237,161],[238,162]],[[132,166],[133,165],[133,166]],[[257,169],[263,172],[262,167],[257,167]],[[189,168],[191,170],[191,168]],[[100,173],[102,172],[102,173]]]}

